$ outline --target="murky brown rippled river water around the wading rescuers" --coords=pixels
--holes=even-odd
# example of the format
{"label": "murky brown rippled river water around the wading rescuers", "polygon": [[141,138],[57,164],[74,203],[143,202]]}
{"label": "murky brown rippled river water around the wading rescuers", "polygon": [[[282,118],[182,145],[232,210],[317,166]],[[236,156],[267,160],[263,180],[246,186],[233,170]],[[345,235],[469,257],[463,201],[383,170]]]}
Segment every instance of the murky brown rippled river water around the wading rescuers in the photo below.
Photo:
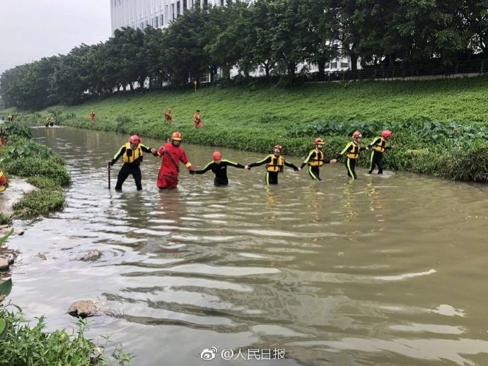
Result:
{"label": "murky brown rippled river water around the wading rescuers", "polygon": [[[105,166],[126,136],[34,133],[74,181],[64,211],[8,243],[21,252],[13,302],[50,329],[74,326],[66,309],[95,298],[117,315],[91,319],[89,335],[113,333],[134,365],[196,365],[211,347],[284,349],[280,365],[487,364],[486,187],[361,169],[352,181],[331,165],[322,182],[286,170],[277,187],[264,168],[230,170],[229,187],[182,171],[160,192],[149,155],[143,190],[129,177],[120,193]],[[185,149],[197,167],[211,157]],[[100,259],[77,260],[93,249]]]}

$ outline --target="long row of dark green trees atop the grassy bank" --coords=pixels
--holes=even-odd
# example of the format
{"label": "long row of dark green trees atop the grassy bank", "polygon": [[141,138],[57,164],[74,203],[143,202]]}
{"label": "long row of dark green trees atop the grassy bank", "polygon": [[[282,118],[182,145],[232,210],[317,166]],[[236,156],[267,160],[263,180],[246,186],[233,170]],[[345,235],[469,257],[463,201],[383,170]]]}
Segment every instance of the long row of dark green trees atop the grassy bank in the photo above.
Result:
{"label": "long row of dark green trees atop the grassy bank", "polygon": [[[73,105],[115,90],[185,85],[256,71],[287,80],[343,55],[363,68],[487,55],[488,0],[257,0],[197,4],[165,30],[122,28],[97,45],[16,66],[0,76],[4,107]],[[299,71],[298,71],[299,69]]]}

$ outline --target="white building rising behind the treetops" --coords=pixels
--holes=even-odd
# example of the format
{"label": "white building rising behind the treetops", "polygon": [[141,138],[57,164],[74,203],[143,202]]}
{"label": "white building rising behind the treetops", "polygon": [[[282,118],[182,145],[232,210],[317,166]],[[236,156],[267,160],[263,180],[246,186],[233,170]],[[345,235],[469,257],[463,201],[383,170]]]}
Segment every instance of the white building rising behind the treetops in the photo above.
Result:
{"label": "white building rising behind the treetops", "polygon": [[[165,28],[196,0],[110,0],[112,35],[116,29],[131,27],[144,29]],[[226,0],[200,0],[200,4],[223,6]]]}

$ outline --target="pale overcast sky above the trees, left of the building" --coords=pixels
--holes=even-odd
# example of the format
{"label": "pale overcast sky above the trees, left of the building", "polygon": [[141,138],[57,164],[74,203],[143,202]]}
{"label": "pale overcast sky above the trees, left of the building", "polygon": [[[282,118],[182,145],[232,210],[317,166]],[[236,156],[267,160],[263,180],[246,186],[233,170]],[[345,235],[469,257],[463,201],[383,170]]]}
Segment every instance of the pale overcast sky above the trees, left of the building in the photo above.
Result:
{"label": "pale overcast sky above the trees, left of the building", "polygon": [[0,74],[112,35],[110,0],[0,0]]}

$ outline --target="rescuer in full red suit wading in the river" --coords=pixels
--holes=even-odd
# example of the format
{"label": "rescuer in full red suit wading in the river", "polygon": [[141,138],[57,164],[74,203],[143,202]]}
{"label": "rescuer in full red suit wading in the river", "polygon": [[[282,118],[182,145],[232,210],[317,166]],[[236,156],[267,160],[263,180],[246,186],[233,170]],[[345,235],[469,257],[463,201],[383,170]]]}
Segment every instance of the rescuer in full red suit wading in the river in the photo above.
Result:
{"label": "rescuer in full red suit wading in the river", "polygon": [[161,158],[161,167],[158,172],[156,187],[159,189],[176,188],[178,186],[178,175],[180,175],[180,162],[185,164],[192,174],[192,163],[188,161],[185,150],[180,146],[182,141],[180,132],[176,131],[171,135],[171,142],[165,143],[158,148],[158,156]]}

